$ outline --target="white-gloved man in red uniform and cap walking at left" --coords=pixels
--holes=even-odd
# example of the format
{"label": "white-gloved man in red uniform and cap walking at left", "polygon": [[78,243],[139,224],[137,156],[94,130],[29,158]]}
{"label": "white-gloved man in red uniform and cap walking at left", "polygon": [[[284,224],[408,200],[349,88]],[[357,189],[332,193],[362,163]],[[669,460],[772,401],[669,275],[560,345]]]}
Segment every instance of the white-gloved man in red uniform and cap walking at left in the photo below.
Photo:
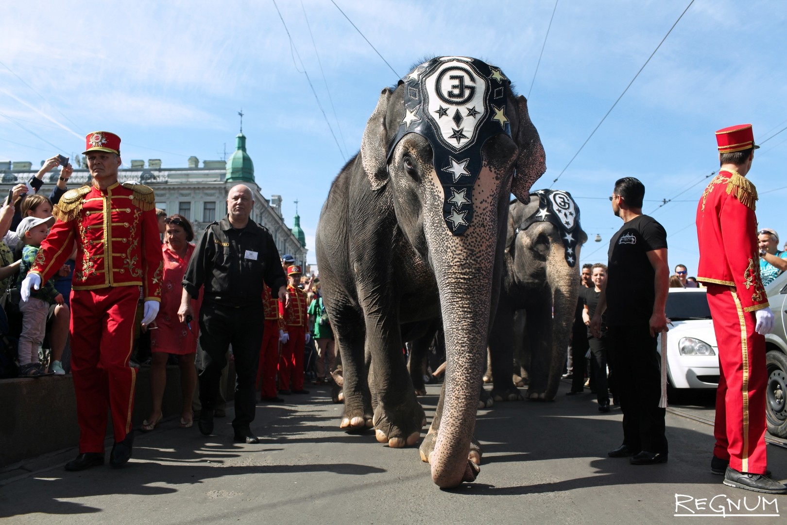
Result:
{"label": "white-gloved man in red uniform and cap walking at left", "polygon": [[68,190],[54,207],[57,219],[24,279],[27,301],[59,270],[76,246],[71,292],[71,366],[79,422],[79,455],[65,469],[104,463],[107,407],[112,412],[113,467],[131,457],[136,369],[128,365],[134,342],[139,289],[145,299],[142,324],[150,324],[161,301],[161,239],[153,190],[117,182],[120,137],[87,135],[91,186]]}

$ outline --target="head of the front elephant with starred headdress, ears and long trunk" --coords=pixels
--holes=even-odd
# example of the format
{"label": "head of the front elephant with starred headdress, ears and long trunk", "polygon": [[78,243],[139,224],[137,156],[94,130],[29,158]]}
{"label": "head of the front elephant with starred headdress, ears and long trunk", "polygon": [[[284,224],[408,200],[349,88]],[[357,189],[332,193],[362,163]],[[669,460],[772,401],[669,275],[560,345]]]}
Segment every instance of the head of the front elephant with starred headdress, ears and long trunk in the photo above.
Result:
{"label": "head of the front elephant with starred headdress, ears and long trunk", "polygon": [[[448,367],[432,479],[467,479],[508,198],[527,201],[545,153],[500,69],[438,57],[382,91],[360,154],[371,189],[390,191],[401,231],[438,283]],[[471,475],[471,479],[475,475]]]}

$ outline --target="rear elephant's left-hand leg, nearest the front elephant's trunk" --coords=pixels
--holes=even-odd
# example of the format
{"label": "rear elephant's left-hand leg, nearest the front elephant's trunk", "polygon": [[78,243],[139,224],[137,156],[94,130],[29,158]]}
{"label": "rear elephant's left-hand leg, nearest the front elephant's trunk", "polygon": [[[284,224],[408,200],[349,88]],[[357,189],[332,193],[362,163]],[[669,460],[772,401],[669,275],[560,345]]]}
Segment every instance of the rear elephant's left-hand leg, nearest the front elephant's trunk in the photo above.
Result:
{"label": "rear elephant's left-hand leg, nearest the front elephant's trunk", "polygon": [[522,394],[513,383],[513,317],[514,312],[508,301],[501,300],[497,305],[492,329],[490,330],[490,360],[492,365],[493,401],[521,401]]}

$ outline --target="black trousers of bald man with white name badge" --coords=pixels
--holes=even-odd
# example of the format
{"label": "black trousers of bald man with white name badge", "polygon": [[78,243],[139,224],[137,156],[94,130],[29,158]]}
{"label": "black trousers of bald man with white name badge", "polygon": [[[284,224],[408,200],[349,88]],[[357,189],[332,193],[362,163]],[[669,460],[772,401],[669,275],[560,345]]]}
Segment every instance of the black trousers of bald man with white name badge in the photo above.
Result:
{"label": "black trousers of bald man with white name badge", "polygon": [[265,314],[263,306],[232,306],[202,303],[199,342],[205,351],[199,375],[199,399],[203,412],[212,410],[219,393],[221,371],[227,365],[227,349],[235,357],[235,429],[246,429],[254,420],[255,382]]}

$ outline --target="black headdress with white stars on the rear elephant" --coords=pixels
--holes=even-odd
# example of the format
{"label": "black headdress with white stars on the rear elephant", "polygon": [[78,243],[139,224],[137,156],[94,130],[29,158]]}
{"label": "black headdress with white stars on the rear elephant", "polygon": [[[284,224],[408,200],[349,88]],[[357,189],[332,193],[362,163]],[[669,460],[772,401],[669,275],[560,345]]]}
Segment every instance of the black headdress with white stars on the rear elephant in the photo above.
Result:
{"label": "black headdress with white stars on the rear elephant", "polygon": [[538,210],[527,216],[522,224],[516,228],[516,233],[527,230],[530,225],[537,222],[549,222],[560,231],[560,240],[563,242],[566,262],[571,268],[577,262],[576,250],[578,235],[582,227],[579,225],[579,208],[571,194],[563,190],[538,190],[531,193],[530,197],[538,197]]}

